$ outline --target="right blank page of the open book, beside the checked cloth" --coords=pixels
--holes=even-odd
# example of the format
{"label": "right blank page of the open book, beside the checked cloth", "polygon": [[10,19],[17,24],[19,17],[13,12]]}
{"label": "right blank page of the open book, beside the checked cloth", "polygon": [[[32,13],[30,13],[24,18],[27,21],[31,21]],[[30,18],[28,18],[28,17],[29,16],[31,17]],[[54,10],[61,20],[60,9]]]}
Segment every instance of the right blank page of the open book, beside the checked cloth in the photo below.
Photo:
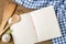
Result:
{"label": "right blank page of the open book, beside the checked cloth", "polygon": [[37,42],[62,36],[53,6],[33,11],[31,15],[35,25]]}

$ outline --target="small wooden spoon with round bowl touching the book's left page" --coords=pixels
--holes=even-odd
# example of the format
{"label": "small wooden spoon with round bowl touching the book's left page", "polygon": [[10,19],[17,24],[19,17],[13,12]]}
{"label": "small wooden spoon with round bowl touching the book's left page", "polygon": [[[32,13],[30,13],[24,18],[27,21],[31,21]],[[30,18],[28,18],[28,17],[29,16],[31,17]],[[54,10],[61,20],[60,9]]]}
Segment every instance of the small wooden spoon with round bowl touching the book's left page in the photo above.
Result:
{"label": "small wooden spoon with round bowl touching the book's left page", "polygon": [[3,33],[8,30],[9,26],[11,26],[12,24],[14,24],[14,23],[16,23],[16,22],[19,22],[19,21],[20,21],[20,16],[19,16],[18,14],[13,14],[10,24],[8,24],[8,25],[6,26],[6,29],[2,30],[0,33],[3,34]]}

